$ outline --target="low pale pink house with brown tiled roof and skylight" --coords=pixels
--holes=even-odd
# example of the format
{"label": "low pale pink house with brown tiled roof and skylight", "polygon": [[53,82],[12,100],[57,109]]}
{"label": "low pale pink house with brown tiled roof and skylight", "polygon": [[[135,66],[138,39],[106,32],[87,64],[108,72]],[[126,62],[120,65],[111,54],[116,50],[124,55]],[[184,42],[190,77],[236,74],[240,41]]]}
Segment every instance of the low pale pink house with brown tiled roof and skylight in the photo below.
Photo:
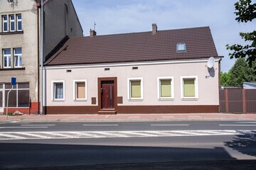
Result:
{"label": "low pale pink house with brown tiled roof and skylight", "polygon": [[88,37],[65,38],[47,58],[47,114],[219,111],[221,59],[209,27],[91,30]]}

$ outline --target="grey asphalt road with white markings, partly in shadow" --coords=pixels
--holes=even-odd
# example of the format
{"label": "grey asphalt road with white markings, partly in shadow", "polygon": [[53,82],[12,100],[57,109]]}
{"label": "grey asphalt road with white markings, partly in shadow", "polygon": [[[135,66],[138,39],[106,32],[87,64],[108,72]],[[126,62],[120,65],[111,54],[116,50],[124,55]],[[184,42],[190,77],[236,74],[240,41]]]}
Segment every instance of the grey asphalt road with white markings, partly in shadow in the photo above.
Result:
{"label": "grey asphalt road with white markings, partly in shadow", "polygon": [[256,122],[0,123],[0,151],[0,169],[235,164],[256,159]]}

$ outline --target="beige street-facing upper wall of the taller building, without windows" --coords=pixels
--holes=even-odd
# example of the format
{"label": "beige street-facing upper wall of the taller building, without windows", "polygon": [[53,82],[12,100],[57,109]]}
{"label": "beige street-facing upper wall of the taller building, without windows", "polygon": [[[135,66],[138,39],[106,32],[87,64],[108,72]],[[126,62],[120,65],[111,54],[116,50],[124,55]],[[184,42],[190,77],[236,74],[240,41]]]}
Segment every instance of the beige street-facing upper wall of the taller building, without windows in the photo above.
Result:
{"label": "beige street-facing upper wall of the taller building, without windows", "polygon": [[[16,2],[16,1],[14,1]],[[16,77],[17,82],[29,82],[31,101],[37,101],[37,7],[35,1],[23,0],[11,6],[7,1],[0,1],[0,16],[21,13],[23,33],[0,35],[0,82],[10,83],[11,77]],[[0,33],[2,33],[0,27]],[[23,70],[3,69],[3,54],[5,48],[11,49],[11,64],[14,64],[13,49],[22,48]]]}

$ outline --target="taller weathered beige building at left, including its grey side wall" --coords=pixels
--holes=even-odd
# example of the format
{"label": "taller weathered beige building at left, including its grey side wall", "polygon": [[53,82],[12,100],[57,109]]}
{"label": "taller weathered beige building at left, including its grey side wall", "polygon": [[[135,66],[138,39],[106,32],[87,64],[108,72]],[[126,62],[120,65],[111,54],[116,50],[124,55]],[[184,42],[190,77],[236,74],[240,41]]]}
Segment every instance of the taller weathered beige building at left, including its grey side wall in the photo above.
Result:
{"label": "taller weathered beige building at left, including its grey side wall", "polygon": [[[47,0],[43,5],[46,56],[66,35],[81,37],[82,27],[71,0]],[[11,77],[17,85],[9,94],[9,111],[39,110],[40,10],[38,1],[0,1],[0,113],[7,106]]]}

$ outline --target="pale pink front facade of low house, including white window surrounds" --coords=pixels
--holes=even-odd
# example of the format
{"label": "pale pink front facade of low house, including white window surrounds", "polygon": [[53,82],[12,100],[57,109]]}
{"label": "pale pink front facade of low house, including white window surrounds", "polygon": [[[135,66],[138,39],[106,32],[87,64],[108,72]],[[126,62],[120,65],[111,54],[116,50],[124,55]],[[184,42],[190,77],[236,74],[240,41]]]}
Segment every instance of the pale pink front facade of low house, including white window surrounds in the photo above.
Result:
{"label": "pale pink front facade of low house, including white window surrounds", "polygon": [[[122,103],[117,106],[217,106],[218,62],[208,69],[207,58],[201,60],[169,60],[154,62],[131,62],[116,64],[91,64],[80,66],[45,67],[46,106],[98,106],[98,78],[117,77],[117,97]],[[183,79],[196,79],[194,98],[183,97]],[[140,79],[141,98],[130,98],[130,79]],[[171,98],[159,98],[159,79],[171,79]],[[86,100],[75,100],[74,81],[86,81]],[[62,82],[63,100],[54,99],[54,83]],[[92,98],[96,103],[92,104]],[[118,109],[117,109],[118,110]]]}

